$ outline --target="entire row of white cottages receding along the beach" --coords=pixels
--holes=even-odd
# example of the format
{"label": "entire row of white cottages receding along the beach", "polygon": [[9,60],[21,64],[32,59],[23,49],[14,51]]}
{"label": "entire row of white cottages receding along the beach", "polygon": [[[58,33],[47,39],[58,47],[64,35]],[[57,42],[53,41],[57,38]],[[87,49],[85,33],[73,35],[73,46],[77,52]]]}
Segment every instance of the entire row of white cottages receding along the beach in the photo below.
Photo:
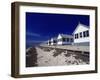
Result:
{"label": "entire row of white cottages receding along the beach", "polygon": [[89,46],[89,27],[79,24],[72,35],[59,34],[48,40],[48,45],[82,45]]}

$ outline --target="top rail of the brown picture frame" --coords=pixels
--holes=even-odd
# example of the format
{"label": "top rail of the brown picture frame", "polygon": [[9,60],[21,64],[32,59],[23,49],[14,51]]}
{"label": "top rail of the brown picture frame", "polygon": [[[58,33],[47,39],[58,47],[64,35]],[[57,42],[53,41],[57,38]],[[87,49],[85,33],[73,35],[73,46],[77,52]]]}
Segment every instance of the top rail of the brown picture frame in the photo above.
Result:
{"label": "top rail of the brown picture frame", "polygon": [[74,9],[91,9],[95,10],[96,6],[81,6],[81,5],[61,5],[61,4],[48,4],[48,3],[32,3],[32,2],[14,2],[17,5],[23,6],[45,6],[45,7],[58,7],[58,8],[74,8]]}

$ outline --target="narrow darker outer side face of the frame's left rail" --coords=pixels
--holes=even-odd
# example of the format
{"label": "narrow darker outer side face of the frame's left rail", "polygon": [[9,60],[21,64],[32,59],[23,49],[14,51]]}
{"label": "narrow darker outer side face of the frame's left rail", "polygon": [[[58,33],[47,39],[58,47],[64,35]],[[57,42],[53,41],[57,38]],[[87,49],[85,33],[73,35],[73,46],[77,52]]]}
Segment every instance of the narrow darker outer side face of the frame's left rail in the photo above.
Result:
{"label": "narrow darker outer side face of the frame's left rail", "polygon": [[11,5],[11,76],[14,77],[15,75],[15,29],[14,29],[14,16],[15,16],[15,4]]}

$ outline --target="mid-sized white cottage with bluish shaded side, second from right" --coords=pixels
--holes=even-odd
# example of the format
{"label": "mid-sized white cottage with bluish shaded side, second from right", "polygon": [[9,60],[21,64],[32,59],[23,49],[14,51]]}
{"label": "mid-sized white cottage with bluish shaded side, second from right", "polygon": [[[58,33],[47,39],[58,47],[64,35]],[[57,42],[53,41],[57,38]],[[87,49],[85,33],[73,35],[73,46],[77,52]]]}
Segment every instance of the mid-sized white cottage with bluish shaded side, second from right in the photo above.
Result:
{"label": "mid-sized white cottage with bluish shaded side, second from right", "polygon": [[59,34],[57,38],[58,45],[71,45],[73,43],[73,36],[67,34]]}

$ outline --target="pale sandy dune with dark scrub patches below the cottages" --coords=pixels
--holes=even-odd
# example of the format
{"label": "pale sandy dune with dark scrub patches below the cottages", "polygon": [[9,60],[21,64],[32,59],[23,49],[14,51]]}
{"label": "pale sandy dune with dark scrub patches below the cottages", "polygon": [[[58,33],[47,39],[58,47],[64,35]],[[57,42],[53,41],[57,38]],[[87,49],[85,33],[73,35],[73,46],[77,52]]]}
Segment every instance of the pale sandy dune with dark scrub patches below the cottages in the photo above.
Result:
{"label": "pale sandy dune with dark scrub patches below the cottages", "polygon": [[[57,66],[57,65],[82,65],[89,64],[89,53],[73,52],[66,49],[35,47],[33,66]],[[28,52],[32,52],[32,50]],[[34,50],[31,54],[34,54]],[[32,60],[31,60],[32,63]],[[32,63],[32,64],[33,64]],[[27,63],[28,64],[28,63]],[[31,66],[30,66],[31,67]]]}

